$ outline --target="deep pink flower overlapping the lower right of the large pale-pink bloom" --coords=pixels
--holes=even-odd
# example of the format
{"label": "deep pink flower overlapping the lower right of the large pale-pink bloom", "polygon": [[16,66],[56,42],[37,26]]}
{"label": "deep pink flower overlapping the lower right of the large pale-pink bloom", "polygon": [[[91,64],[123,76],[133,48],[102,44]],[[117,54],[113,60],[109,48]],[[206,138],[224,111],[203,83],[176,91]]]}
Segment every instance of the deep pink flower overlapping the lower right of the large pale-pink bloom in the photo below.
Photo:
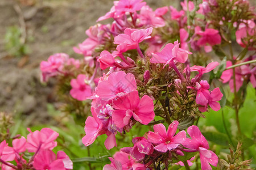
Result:
{"label": "deep pink flower overlapping the lower right of the large pale-pink bloom", "polygon": [[139,99],[138,91],[119,97],[113,101],[113,121],[119,128],[127,125],[131,116],[143,125],[147,125],[155,117],[153,100],[144,95]]}

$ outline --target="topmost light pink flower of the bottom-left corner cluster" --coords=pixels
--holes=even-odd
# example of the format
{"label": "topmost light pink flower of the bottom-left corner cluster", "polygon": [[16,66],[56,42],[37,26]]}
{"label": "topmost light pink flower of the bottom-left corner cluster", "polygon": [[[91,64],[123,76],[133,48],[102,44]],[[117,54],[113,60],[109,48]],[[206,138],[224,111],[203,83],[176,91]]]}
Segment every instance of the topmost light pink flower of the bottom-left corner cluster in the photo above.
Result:
{"label": "topmost light pink flower of the bottom-left corner cluster", "polygon": [[53,131],[50,128],[43,128],[40,131],[36,130],[32,132],[29,128],[30,134],[27,135],[27,150],[28,152],[36,152],[40,147],[40,150],[52,150],[57,146],[55,139],[59,136],[59,133]]}

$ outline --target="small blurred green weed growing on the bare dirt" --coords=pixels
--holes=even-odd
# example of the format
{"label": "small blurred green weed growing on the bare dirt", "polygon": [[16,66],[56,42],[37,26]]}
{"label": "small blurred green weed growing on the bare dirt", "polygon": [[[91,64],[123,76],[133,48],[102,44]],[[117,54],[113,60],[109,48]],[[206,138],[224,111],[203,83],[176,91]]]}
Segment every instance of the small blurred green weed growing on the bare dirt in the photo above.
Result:
{"label": "small blurred green weed growing on the bare dirt", "polygon": [[10,56],[22,57],[30,52],[28,46],[21,40],[22,33],[17,26],[7,28],[5,34],[5,49]]}

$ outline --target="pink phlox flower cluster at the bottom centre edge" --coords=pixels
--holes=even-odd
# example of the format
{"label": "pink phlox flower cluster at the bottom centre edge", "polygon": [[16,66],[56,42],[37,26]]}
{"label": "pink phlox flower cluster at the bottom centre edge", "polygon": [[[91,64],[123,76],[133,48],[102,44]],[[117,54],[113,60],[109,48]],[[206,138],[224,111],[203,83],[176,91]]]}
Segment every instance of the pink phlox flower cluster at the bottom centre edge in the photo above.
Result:
{"label": "pink phlox flower cluster at the bottom centre edge", "polygon": [[[217,166],[218,157],[213,151],[209,150],[209,145],[205,137],[201,134],[197,126],[190,126],[188,134],[191,138],[186,137],[184,130],[176,134],[179,122],[174,121],[169,125],[168,130],[163,124],[154,125],[154,131],[149,131],[147,139],[137,137],[133,139],[133,147],[122,148],[113,158],[109,158],[111,164],[105,165],[104,169],[151,169],[150,165],[168,161],[173,158],[171,155],[184,156],[185,152],[199,152],[201,160],[201,168],[212,169],[210,164]],[[170,155],[168,158],[163,158],[163,153]],[[147,162],[147,158],[152,158],[153,161]],[[164,160],[167,159],[167,160]],[[193,158],[191,158],[193,160]],[[189,165],[193,163],[189,161]],[[179,162],[180,165],[184,165]]]}

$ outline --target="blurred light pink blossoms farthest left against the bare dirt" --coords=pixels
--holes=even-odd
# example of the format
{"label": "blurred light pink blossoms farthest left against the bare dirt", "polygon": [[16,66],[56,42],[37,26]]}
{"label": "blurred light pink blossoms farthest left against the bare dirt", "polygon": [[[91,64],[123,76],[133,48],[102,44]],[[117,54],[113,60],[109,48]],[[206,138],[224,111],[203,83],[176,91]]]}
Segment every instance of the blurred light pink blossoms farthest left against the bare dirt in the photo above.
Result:
{"label": "blurred light pink blossoms farthest left against the bare dirt", "polygon": [[42,71],[42,81],[47,82],[48,78],[55,76],[62,71],[64,63],[68,61],[68,54],[57,53],[49,56],[47,61],[40,63],[40,70]]}

